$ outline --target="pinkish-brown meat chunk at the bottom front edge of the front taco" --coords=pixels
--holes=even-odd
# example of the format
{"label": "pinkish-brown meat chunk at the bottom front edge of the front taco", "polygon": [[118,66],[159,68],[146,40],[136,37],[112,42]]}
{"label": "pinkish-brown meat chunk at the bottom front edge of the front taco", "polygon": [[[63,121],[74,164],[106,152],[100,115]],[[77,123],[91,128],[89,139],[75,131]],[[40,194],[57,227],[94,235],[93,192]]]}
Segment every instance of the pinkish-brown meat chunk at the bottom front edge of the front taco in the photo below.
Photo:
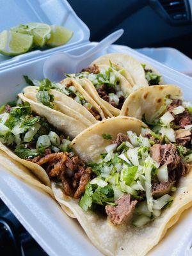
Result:
{"label": "pinkish-brown meat chunk at the bottom front edge of the front taco", "polygon": [[120,199],[116,200],[116,206],[106,205],[106,213],[108,214],[109,220],[114,225],[129,223],[137,202],[136,200],[131,200],[129,194],[125,194]]}

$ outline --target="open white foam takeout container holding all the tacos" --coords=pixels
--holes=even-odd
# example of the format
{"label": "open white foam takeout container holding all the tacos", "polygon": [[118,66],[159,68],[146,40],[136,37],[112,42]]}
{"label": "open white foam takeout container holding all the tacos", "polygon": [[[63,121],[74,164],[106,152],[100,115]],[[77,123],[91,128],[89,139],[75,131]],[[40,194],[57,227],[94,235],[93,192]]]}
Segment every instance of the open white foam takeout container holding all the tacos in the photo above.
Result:
{"label": "open white foam takeout container holding all the tacos", "polygon": [[[0,0],[0,4],[4,3]],[[54,9],[54,4],[61,4],[63,9],[60,13],[67,13],[67,15],[72,15],[74,19],[74,35],[79,33],[78,29],[81,30],[81,39],[77,38],[76,42],[69,42],[68,45],[62,47],[57,47],[56,49],[46,50],[44,52],[36,51],[29,52],[22,56],[18,56],[8,60],[2,60],[0,63],[0,102],[3,104],[9,100],[15,99],[15,95],[22,90],[25,85],[23,76],[29,76],[33,79],[43,79],[43,65],[44,61],[47,60],[53,52],[57,51],[67,51],[71,54],[81,54],[88,51],[93,47],[95,42],[89,42],[89,30],[85,24],[76,16],[72,11],[72,8],[68,5],[66,1],[60,0],[36,0],[36,1],[12,1],[9,0],[8,3],[15,2],[18,3],[18,8],[24,8],[23,4],[35,3],[38,12],[44,12],[42,17],[47,13],[51,13],[45,10],[49,8]],[[46,5],[47,4],[47,5]],[[52,5],[51,5],[52,4]],[[5,4],[6,5],[6,4]],[[28,7],[29,7],[28,6]],[[49,6],[48,9],[38,8],[40,6]],[[34,6],[33,6],[34,7]],[[26,7],[27,8],[27,7]],[[35,7],[34,7],[35,8]],[[22,9],[27,10],[27,9]],[[30,10],[33,10],[31,8]],[[62,12],[61,12],[62,11]],[[0,24],[2,10],[0,9]],[[29,13],[30,14],[30,13]],[[3,15],[3,17],[5,17]],[[28,16],[26,16],[28,17]],[[54,23],[53,17],[50,17],[49,23]],[[14,22],[16,19],[14,19]],[[32,19],[29,15],[28,21],[42,21],[47,22],[47,19]],[[19,22],[17,22],[18,24]],[[55,21],[55,23],[57,23]],[[17,25],[11,24],[9,26]],[[63,24],[63,23],[60,23]],[[78,41],[79,40],[79,41]],[[134,58],[141,61],[141,63],[150,63],[163,75],[165,83],[177,84],[182,88],[184,93],[184,98],[186,100],[192,100],[192,78],[180,74],[171,68],[168,68],[161,63],[140,54],[132,50],[129,47],[121,45],[111,45],[108,49],[105,49],[95,56],[92,60],[109,52],[124,52],[130,54]],[[0,57],[1,60],[1,57]],[[90,62],[92,61],[90,60]],[[83,67],[82,67],[83,68]],[[36,189],[33,186],[29,186],[25,182],[17,177],[13,176],[8,170],[3,168],[0,163],[0,196],[10,210],[19,219],[20,223],[28,230],[28,232],[35,238],[35,240],[44,248],[45,252],[50,256],[62,256],[62,255],[82,255],[82,256],[101,256],[102,254],[92,245],[88,237],[83,231],[83,228],[79,223],[69,218],[60,208],[60,206],[49,196],[42,192],[40,189]],[[182,214],[179,222],[170,228],[168,234],[164,239],[148,253],[148,256],[189,256],[192,255],[189,250],[191,246],[192,237],[192,211],[188,209]]]}

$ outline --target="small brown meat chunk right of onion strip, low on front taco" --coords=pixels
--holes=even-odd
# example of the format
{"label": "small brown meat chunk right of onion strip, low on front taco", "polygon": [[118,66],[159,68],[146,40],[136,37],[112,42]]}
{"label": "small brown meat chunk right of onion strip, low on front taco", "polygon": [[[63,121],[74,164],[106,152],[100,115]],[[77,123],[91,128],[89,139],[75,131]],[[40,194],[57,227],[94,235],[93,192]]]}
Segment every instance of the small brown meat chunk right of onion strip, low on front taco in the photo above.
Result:
{"label": "small brown meat chunk right of onion strip, low on front taco", "polygon": [[170,189],[174,184],[175,180],[154,182],[154,184],[152,184],[152,196],[156,198],[170,193]]}

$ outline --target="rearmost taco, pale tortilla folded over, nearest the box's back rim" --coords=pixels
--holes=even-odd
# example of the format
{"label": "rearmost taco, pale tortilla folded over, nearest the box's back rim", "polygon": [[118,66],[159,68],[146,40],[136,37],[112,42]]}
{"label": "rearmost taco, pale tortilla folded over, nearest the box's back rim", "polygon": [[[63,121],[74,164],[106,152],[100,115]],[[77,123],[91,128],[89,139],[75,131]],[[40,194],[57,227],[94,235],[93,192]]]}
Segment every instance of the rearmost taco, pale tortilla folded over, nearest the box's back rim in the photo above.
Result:
{"label": "rearmost taco, pale tortilla folded over, nearest the box's back rim", "polygon": [[128,54],[120,52],[106,54],[93,61],[92,65],[109,65],[109,63],[112,63],[113,68],[121,72],[134,90],[148,85],[163,83],[163,79],[157,70],[148,64],[140,63],[140,61]]}

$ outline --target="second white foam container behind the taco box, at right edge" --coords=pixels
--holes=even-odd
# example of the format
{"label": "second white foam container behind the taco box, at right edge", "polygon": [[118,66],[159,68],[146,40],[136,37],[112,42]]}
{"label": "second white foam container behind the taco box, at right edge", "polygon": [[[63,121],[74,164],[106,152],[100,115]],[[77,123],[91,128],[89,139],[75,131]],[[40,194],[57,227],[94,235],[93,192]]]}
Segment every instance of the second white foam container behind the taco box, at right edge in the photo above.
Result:
{"label": "second white foam container behind the taco box, at right edge", "polygon": [[157,60],[164,65],[173,68],[183,74],[192,76],[192,60],[172,47],[160,48],[141,48],[136,51],[147,55],[148,57]]}

